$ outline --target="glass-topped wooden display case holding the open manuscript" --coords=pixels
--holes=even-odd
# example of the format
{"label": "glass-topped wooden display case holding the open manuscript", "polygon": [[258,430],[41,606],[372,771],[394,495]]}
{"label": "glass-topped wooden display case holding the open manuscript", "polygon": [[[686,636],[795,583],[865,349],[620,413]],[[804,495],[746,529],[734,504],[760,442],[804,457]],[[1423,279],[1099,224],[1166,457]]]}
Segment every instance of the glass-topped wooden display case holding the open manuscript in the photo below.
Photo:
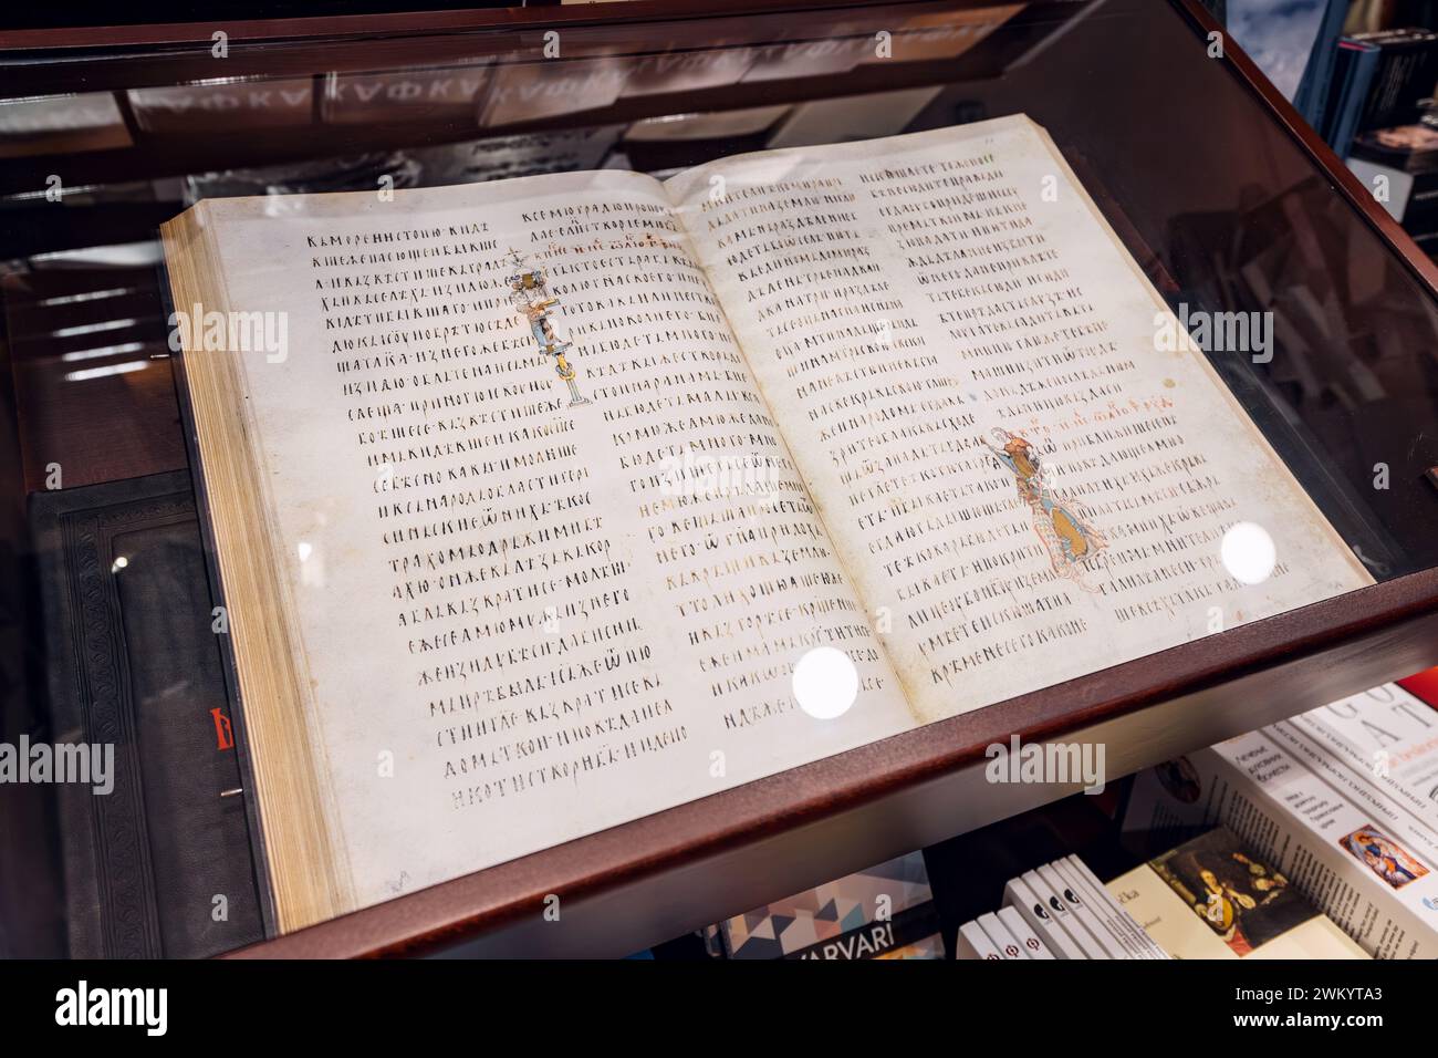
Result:
{"label": "glass-topped wooden display case holding the open manuscript", "polygon": [[[56,767],[65,746],[98,754],[89,783],[0,785],[6,954],[621,956],[1081,785],[988,780],[986,749],[1011,738],[1103,746],[1116,777],[1438,664],[1438,271],[1198,3],[636,0],[127,26],[104,45],[26,30],[0,33],[0,741],[52,747]],[[624,229],[624,210],[666,219]],[[516,246],[521,230],[538,233]],[[595,279],[580,258],[615,230],[634,242],[601,246],[618,256]],[[391,502],[418,527],[400,504],[420,492],[390,491],[424,468],[375,461],[364,430],[393,423],[352,412],[416,413],[429,369],[406,361],[393,402],[334,379],[413,354],[358,321],[411,297],[403,261],[351,282],[378,273],[377,246],[430,238],[401,232],[459,262],[427,276],[463,302],[450,322],[505,335],[490,351],[533,373],[424,376],[429,394],[467,392],[485,429],[495,402],[542,404],[526,443],[554,462],[531,476],[585,481],[585,546],[653,580],[610,596],[561,577],[528,599],[506,582],[518,594],[485,620],[463,607],[498,586],[400,602],[417,580],[375,564],[401,551],[361,511]],[[249,350],[232,376],[201,358],[224,345],[186,330],[186,295],[220,288],[232,312],[280,314],[288,360]],[[690,288],[705,334],[676,307],[644,315]],[[861,315],[860,337],[815,330],[830,309]],[[669,377],[700,347],[687,397],[637,420],[615,376],[672,356],[651,364]],[[745,453],[782,449],[762,464],[769,505],[720,488],[654,514],[673,499],[659,455],[722,455],[705,417],[720,397],[748,409]],[[650,495],[621,435],[661,428],[683,440],[649,449]],[[492,478],[529,504],[486,436],[483,472],[436,495]],[[834,471],[846,458],[861,485]],[[746,459],[706,466],[752,484]],[[528,510],[523,531],[558,531]],[[720,528],[687,541],[700,510]],[[686,547],[729,551],[700,573]],[[483,580],[470,559],[446,571]],[[500,654],[549,664],[538,643],[600,597],[633,622],[613,649],[654,711],[568,717],[569,691],[496,675],[519,664]],[[722,620],[686,625],[696,606]],[[416,635],[449,649],[480,628],[444,664],[487,672],[416,691],[437,671]],[[843,661],[820,697],[854,681],[844,718],[802,700],[825,645]],[[279,672],[301,655],[305,672]],[[590,675],[577,687],[598,694]],[[479,704],[436,720],[466,692]],[[546,757],[577,717],[613,738]],[[615,734],[628,724],[640,741]],[[626,770],[664,756],[666,731],[684,749]],[[562,795],[475,793],[531,751]],[[592,783],[562,770],[591,753],[623,760]],[[483,805],[456,816],[464,797]]]}

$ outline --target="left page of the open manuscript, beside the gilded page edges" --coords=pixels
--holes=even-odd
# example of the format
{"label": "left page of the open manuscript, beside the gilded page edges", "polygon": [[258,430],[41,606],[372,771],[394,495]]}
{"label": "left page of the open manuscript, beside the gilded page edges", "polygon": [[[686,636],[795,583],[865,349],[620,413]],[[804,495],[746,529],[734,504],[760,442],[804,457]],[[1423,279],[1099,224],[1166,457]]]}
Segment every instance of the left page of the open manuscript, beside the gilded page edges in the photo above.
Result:
{"label": "left page of the open manuscript, beside the gilded page edges", "polygon": [[204,210],[357,904],[912,727],[660,184]]}

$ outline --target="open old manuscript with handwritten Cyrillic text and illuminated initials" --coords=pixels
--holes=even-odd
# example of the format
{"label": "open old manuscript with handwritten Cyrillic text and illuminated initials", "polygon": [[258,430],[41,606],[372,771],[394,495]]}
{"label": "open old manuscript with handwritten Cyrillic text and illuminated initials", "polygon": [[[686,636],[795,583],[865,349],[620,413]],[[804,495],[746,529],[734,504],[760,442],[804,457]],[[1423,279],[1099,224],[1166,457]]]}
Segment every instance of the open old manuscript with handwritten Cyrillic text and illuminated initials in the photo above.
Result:
{"label": "open old manuscript with handwritten Cyrillic text and illuminated initials", "polygon": [[164,243],[282,930],[1370,583],[1024,117]]}

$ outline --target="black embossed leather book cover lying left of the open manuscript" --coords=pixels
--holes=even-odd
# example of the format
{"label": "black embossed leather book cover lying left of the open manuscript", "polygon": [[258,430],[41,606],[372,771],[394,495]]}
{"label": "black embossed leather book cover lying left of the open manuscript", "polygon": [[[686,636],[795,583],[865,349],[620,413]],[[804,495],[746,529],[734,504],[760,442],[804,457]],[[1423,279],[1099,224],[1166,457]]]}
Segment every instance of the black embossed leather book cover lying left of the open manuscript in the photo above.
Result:
{"label": "black embossed leather book cover lying left of the open manuscript", "polygon": [[56,787],[70,953],[198,957],[263,937],[221,635],[184,471],[30,497],[50,730],[114,746]]}

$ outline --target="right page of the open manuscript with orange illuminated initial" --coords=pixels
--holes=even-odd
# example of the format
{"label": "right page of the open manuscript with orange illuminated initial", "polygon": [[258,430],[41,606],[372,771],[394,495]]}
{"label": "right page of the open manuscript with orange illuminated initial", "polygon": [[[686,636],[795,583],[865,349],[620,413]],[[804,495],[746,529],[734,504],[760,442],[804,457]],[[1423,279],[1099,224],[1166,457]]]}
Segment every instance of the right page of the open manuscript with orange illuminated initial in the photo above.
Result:
{"label": "right page of the open manuscript with orange illuminated initial", "polygon": [[1027,117],[666,190],[920,720],[1372,583]]}

